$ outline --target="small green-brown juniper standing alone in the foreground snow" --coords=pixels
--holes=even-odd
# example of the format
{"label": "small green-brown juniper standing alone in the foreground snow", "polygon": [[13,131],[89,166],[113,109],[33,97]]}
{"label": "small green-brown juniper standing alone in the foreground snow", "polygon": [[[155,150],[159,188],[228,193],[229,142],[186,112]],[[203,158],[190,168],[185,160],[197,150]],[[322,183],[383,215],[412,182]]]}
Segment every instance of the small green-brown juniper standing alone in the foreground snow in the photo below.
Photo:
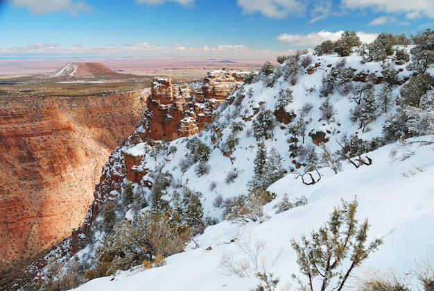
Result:
{"label": "small green-brown juniper standing alone in the foreground snow", "polygon": [[367,218],[358,223],[355,218],[357,206],[356,199],[342,200],[342,206],[334,208],[329,221],[318,231],[311,231],[311,239],[302,235],[301,242],[290,241],[297,253],[300,272],[309,279],[311,291],[315,278],[320,279],[321,291],[331,284],[333,290],[342,290],[354,268],[383,243],[381,239],[374,239],[367,244],[370,224]]}

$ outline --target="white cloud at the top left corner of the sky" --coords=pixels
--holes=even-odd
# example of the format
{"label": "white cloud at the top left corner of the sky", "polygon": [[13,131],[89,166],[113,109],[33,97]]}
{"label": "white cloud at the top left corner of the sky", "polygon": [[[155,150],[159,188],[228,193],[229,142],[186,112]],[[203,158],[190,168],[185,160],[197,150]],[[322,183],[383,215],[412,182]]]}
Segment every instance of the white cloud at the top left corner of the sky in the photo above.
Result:
{"label": "white cloud at the top left corner of the sky", "polygon": [[92,6],[86,1],[73,0],[9,0],[10,5],[26,8],[33,14],[42,15],[46,13],[67,12],[71,15],[78,15],[81,12],[92,10]]}

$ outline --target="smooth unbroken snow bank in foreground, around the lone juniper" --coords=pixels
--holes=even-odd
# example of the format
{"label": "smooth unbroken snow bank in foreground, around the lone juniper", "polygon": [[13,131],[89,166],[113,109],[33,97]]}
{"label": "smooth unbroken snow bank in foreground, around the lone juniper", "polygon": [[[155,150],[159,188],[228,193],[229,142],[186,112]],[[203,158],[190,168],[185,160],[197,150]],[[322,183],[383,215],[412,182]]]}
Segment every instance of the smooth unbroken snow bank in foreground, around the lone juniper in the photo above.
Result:
{"label": "smooth unbroken snow bank in foreground, around the lone juniper", "polygon": [[[265,246],[259,258],[264,259],[266,270],[279,277],[282,290],[295,290],[297,285],[290,275],[298,274],[299,269],[290,239],[309,235],[329,218],[340,199],[350,201],[355,196],[359,203],[356,217],[359,221],[368,217],[372,224],[368,240],[383,238],[384,242],[356,269],[356,275],[363,276],[363,271],[371,267],[383,272],[392,268],[398,274],[417,270],[418,263],[434,258],[433,149],[422,147],[414,156],[399,161],[389,157],[393,147],[391,144],[370,153],[373,163],[369,167],[346,165],[336,175],[321,171],[324,177],[320,183],[309,187],[287,175],[269,188],[278,196],[265,206],[270,215],[265,222],[238,225],[225,221],[209,226],[195,239],[199,248],[189,244],[184,253],[168,257],[165,266],[148,270],[139,267],[96,278],[77,290],[140,290],[144,286],[149,290],[250,290],[259,283],[253,271],[245,278],[225,276],[220,262],[227,253],[232,253],[235,261],[243,260],[247,255],[241,247],[255,249],[258,242]],[[289,197],[304,194],[309,203],[276,215],[272,206],[284,193]],[[250,265],[253,269],[252,262]],[[412,290],[421,289],[415,283]]]}

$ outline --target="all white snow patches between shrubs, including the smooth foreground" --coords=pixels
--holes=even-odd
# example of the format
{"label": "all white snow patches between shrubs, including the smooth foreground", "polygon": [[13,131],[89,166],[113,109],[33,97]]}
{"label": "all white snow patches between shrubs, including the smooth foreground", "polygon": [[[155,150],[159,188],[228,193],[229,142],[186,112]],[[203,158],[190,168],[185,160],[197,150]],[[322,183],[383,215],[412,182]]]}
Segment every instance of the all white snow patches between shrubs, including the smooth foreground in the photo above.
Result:
{"label": "all white snow patches between shrubs, including the smooth foreground", "polygon": [[[173,181],[187,185],[193,191],[202,192],[202,206],[205,216],[217,217],[221,220],[223,208],[213,206],[217,195],[223,199],[247,194],[246,184],[253,176],[253,161],[256,156],[257,142],[253,136],[248,136],[247,131],[252,127],[252,120],[245,122],[243,117],[251,117],[254,110],[274,110],[277,104],[277,96],[281,89],[293,90],[293,102],[286,106],[286,110],[294,110],[300,116],[300,110],[306,103],[312,103],[312,121],[306,128],[306,133],[321,130],[327,133],[326,146],[331,152],[340,149],[336,141],[357,133],[359,138],[370,140],[381,135],[382,124],[387,115],[383,114],[369,125],[370,131],[362,133],[358,124],[349,121],[350,111],[355,103],[347,97],[342,97],[337,92],[330,94],[330,103],[336,109],[336,121],[324,122],[318,120],[320,105],[325,98],[320,98],[319,89],[323,74],[330,72],[329,64],[335,66],[341,58],[336,55],[313,56],[313,63],[320,63],[312,75],[299,75],[297,84],[291,86],[283,77],[277,80],[273,87],[265,87],[263,82],[246,84],[245,92],[253,90],[252,97],[246,94],[241,101],[241,110],[235,106],[223,105],[217,110],[214,124],[220,127],[223,138],[217,144],[211,143],[211,131],[203,131],[196,135],[201,142],[207,144],[212,150],[208,164],[211,165],[209,174],[198,177],[194,165],[180,171],[180,161],[185,158],[186,140],[180,138],[170,142],[169,147],[176,147],[174,153],[155,154],[150,156],[148,144],[125,144],[114,153],[114,163],[111,172],[121,176],[121,163],[123,153],[132,156],[143,156],[139,167],[161,167],[162,172],[173,174]],[[361,65],[361,57],[353,55],[347,57],[346,67],[356,68],[357,72],[376,72],[381,75],[379,63],[365,63]],[[399,78],[410,76],[411,72],[401,66]],[[210,76],[212,76],[210,74]],[[154,84],[155,85],[155,84]],[[375,92],[379,92],[381,84],[374,85]],[[397,94],[399,87],[393,88]],[[236,92],[232,97],[236,96]],[[230,98],[230,97],[229,97]],[[182,122],[189,122],[192,117],[185,117]],[[245,128],[238,134],[239,142],[232,152],[233,159],[229,159],[218,149],[219,142],[225,142],[231,132],[232,122],[243,122]],[[144,132],[143,126],[137,131]],[[396,149],[396,144],[388,144],[376,151],[365,153],[362,157],[372,158],[372,165],[363,165],[356,169],[350,163],[342,164],[342,171],[334,174],[333,170],[323,167],[319,169],[321,180],[314,185],[304,185],[301,178],[297,178],[297,170],[290,173],[293,167],[292,160],[288,156],[288,136],[286,128],[281,124],[275,126],[273,137],[265,140],[268,152],[275,147],[282,158],[282,165],[288,170],[288,174],[279,181],[270,185],[268,190],[277,194],[272,202],[263,206],[264,219],[261,222],[248,224],[230,224],[227,221],[215,226],[209,226],[205,233],[194,238],[196,243],[187,245],[183,253],[166,258],[167,265],[153,269],[134,268],[130,271],[118,272],[116,276],[96,278],[81,285],[76,290],[140,290],[146,286],[148,290],[251,290],[259,284],[259,279],[254,276],[256,271],[270,272],[278,276],[279,287],[276,290],[297,290],[297,284],[290,278],[296,274],[306,281],[299,272],[296,263],[295,251],[290,247],[290,240],[300,240],[302,235],[307,235],[312,230],[318,229],[329,218],[333,207],[341,203],[341,199],[352,201],[357,199],[358,212],[356,218],[359,222],[367,217],[371,224],[368,231],[368,242],[374,238],[383,238],[383,244],[379,250],[371,253],[361,267],[354,271],[354,277],[347,286],[354,286],[357,276],[362,276],[365,270],[379,269],[381,272],[389,272],[390,269],[398,272],[415,271],[417,264],[434,258],[434,155],[433,145],[420,146],[417,140],[409,145],[409,158],[402,159],[403,153],[392,158],[390,152]],[[432,136],[421,139],[433,140]],[[312,144],[309,136],[305,137],[305,144]],[[419,146],[419,147],[418,147]],[[317,152],[320,149],[317,147]],[[150,169],[152,171],[152,169]],[[238,177],[233,183],[226,183],[227,173],[238,172]],[[303,172],[303,169],[301,170]],[[313,175],[317,177],[316,172]],[[149,178],[145,176],[144,178]],[[216,187],[211,190],[211,183]],[[284,213],[275,213],[275,206],[284,195],[290,200],[303,195],[308,199],[308,204],[292,208]],[[132,220],[132,210],[128,210],[125,218]],[[103,234],[98,233],[98,240]],[[98,244],[97,244],[98,245]],[[254,267],[254,262],[248,260],[248,254],[243,249],[255,249],[263,246],[257,256],[259,265]],[[83,251],[89,251],[85,249]],[[80,256],[83,255],[80,252]],[[220,263],[225,256],[233,257],[234,261],[247,260],[250,263],[246,276],[240,278],[235,274],[227,276]],[[347,262],[346,262],[347,263]],[[227,271],[227,270],[226,270]],[[414,288],[420,289],[413,276]],[[318,281],[315,281],[318,285]],[[349,290],[351,288],[348,288]]]}

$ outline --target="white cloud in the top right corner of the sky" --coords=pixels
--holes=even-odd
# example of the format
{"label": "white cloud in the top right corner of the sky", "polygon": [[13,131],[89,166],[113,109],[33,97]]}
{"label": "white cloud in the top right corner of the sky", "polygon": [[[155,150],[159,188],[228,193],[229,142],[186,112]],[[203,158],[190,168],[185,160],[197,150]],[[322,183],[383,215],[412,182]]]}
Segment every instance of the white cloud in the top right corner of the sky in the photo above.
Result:
{"label": "white cloud in the top right corner of the sky", "polygon": [[434,18],[433,0],[342,0],[342,5],[351,10],[372,8],[377,12],[399,13],[408,19]]}

